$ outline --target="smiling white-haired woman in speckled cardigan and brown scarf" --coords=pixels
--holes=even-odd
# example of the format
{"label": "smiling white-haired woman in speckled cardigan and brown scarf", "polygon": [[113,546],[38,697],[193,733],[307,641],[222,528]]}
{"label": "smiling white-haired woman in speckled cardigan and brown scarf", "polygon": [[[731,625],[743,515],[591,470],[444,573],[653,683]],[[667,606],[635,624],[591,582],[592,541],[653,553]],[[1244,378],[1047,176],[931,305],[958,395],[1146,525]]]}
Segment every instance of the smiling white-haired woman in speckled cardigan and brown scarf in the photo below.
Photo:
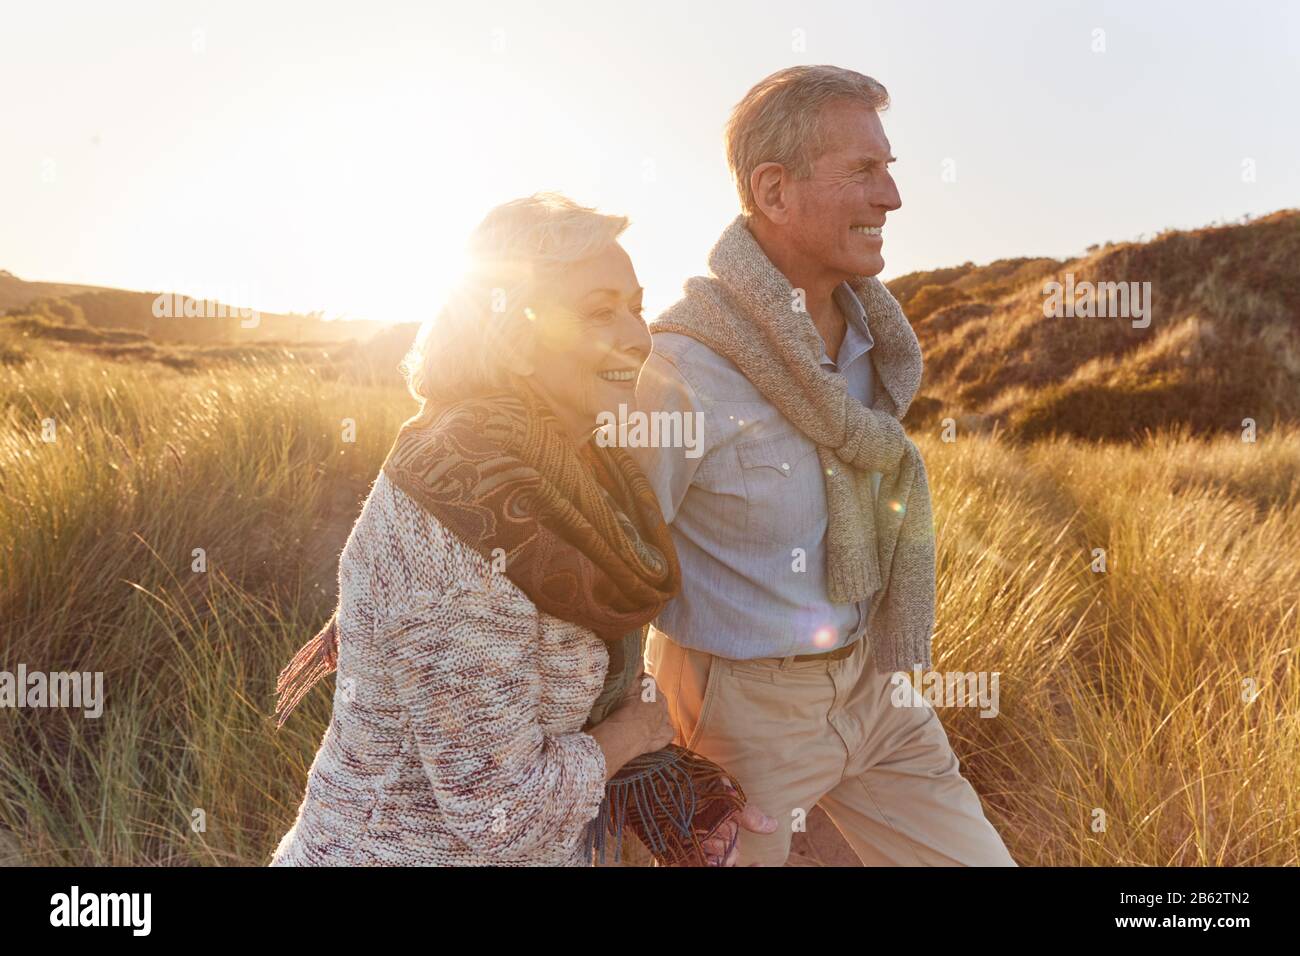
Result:
{"label": "smiling white-haired woman in speckled cardigan and brown scarf", "polygon": [[[338,670],[272,865],[585,865],[607,780],[673,739],[640,639],[677,559],[630,457],[593,440],[650,351],[625,228],[537,195],[474,232],[404,365],[421,410],[343,549],[335,618],[282,675],[281,721]],[[703,862],[733,864],[755,814]]]}

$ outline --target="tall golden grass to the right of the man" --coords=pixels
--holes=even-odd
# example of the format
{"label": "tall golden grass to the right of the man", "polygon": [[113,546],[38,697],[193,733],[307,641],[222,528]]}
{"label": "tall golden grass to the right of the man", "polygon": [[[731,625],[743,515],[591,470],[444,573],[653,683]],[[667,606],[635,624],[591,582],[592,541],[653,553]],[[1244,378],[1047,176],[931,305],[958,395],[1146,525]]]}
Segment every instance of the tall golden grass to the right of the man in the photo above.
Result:
{"label": "tall golden grass to the right of the man", "polygon": [[1017,860],[1300,862],[1300,432],[923,451],[936,670],[1000,671],[942,719]]}

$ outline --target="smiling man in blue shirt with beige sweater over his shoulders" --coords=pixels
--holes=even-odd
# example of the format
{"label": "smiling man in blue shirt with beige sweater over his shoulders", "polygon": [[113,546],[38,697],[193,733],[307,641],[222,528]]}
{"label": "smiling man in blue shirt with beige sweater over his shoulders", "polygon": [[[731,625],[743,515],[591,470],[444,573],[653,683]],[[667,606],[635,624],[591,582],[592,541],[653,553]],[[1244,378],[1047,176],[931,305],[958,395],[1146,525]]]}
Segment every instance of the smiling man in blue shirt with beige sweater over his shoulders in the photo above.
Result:
{"label": "smiling man in blue shirt with beige sweater over his shoulders", "polygon": [[646,666],[677,743],[779,821],[741,831],[744,865],[784,864],[814,805],[867,865],[1015,865],[937,714],[893,679],[931,663],[935,549],[900,424],[920,347],[874,278],[901,206],[887,104],[835,66],[749,91],[727,127],[744,212],[651,324],[637,385],[642,411],[703,423],[690,454],[633,451],[682,568]]}

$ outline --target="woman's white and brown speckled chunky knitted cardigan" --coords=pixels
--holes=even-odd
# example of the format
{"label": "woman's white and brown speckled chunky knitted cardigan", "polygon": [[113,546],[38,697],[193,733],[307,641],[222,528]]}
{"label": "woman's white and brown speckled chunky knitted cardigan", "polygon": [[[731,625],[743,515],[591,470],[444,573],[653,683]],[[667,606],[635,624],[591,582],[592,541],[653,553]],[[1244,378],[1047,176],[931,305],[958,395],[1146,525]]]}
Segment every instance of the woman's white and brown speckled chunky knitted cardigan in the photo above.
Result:
{"label": "woman's white and brown speckled chunky knitted cardigan", "polygon": [[273,866],[585,865],[608,652],[381,473],[339,559],[334,713]]}

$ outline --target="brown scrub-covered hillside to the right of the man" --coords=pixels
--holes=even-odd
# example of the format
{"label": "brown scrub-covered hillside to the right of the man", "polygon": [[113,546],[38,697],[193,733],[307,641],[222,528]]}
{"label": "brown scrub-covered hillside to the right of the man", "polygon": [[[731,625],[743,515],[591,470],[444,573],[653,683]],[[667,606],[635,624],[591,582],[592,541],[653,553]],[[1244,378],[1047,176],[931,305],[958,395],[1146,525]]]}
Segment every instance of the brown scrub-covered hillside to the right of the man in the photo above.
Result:
{"label": "brown scrub-covered hillside to the right of the man", "polygon": [[[1045,317],[1046,282],[1149,282],[1150,315]],[[1300,420],[1300,211],[888,284],[920,338],[910,424],[1127,440]],[[1100,297],[1097,302],[1100,302]]]}

